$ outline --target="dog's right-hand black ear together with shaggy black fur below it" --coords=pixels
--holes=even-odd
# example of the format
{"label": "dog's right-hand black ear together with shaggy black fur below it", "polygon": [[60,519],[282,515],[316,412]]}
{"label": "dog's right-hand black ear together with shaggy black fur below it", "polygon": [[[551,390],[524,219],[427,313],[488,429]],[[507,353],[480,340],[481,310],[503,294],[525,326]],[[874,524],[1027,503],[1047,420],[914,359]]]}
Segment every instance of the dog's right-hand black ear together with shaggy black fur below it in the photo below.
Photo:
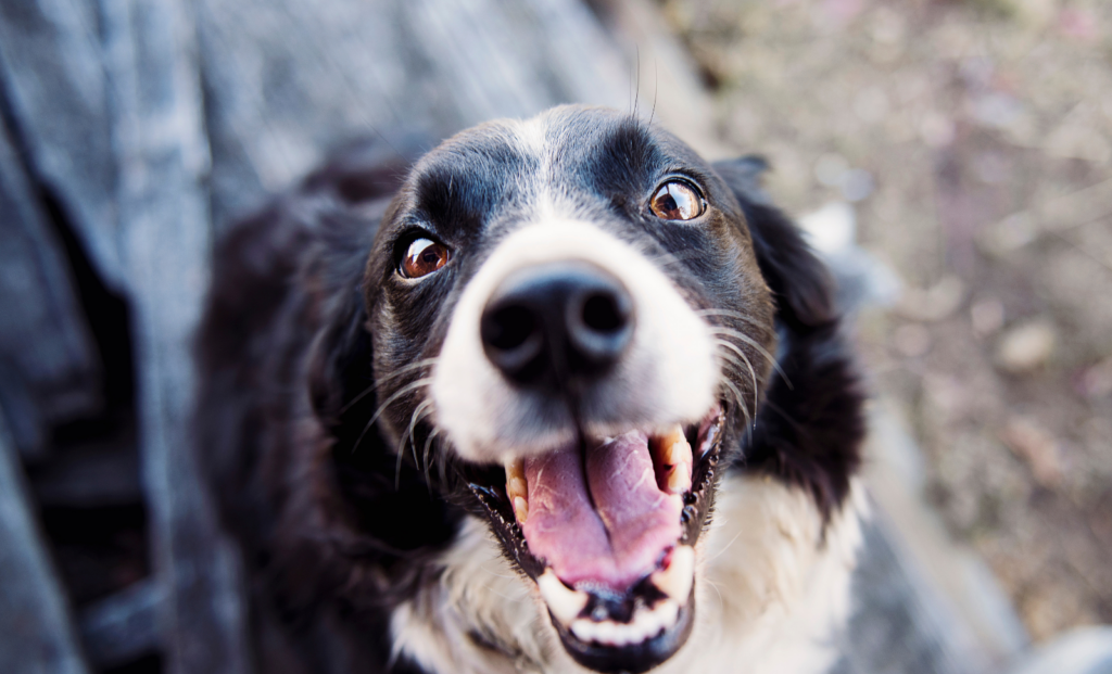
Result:
{"label": "dog's right-hand black ear together with shaggy black fur below it", "polygon": [[833,280],[801,231],[762,191],[765,168],[751,157],[715,166],[745,214],[783,328],[780,366],[737,465],[804,487],[828,521],[861,463],[864,395],[840,334]]}

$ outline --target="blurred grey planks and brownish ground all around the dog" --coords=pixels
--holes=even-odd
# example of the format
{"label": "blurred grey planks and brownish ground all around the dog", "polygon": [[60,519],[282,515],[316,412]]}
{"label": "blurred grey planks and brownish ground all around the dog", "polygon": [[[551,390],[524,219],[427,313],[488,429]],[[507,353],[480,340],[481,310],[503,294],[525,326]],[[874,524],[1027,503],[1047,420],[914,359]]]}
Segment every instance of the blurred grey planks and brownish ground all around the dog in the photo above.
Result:
{"label": "blurred grey planks and brownish ground all around the dog", "polygon": [[212,241],[347,142],[572,101],[763,155],[838,278],[840,672],[1112,672],[1104,0],[0,0],[0,672],[250,672],[189,448]]}

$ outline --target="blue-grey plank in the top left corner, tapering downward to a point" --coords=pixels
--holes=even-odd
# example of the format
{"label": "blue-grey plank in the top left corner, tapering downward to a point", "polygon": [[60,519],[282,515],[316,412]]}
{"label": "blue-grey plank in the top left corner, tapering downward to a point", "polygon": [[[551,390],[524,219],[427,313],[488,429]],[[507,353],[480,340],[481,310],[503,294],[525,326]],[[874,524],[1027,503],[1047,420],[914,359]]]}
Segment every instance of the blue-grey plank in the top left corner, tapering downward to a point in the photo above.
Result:
{"label": "blue-grey plank in the top left corner, tapering downward to a point", "polygon": [[97,6],[0,2],[0,86],[36,179],[61,202],[112,288],[122,289],[116,162]]}

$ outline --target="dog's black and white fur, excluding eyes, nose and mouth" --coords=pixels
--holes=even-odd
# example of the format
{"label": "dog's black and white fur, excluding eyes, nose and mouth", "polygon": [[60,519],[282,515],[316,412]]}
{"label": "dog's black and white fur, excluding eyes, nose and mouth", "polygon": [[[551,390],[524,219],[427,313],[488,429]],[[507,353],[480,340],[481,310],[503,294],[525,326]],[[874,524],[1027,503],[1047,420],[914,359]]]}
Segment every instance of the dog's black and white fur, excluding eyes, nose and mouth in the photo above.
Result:
{"label": "dog's black and white fur, excluding eyes, nose and mouth", "polygon": [[[694,626],[654,672],[825,671],[864,514],[862,396],[825,270],[763,168],[563,107],[409,170],[341,159],[232,230],[199,339],[198,447],[247,567],[258,670],[585,671],[475,485],[576,425],[689,423],[718,399]],[[706,217],[646,212],[675,176]],[[406,279],[415,231],[453,258]],[[476,325],[498,279],[558,259],[603,266],[638,309],[620,367],[566,409],[506,385]]]}

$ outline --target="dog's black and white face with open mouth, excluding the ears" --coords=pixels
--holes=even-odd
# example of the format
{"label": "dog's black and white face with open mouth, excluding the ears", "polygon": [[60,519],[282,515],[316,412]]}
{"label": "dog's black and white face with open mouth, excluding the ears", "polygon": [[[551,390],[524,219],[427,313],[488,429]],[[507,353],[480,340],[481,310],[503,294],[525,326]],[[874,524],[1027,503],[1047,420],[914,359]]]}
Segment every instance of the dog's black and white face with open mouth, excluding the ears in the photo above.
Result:
{"label": "dog's black and white face with open mouth, excluding the ears", "polygon": [[585,666],[645,671],[691,632],[716,467],[775,350],[753,246],[694,151],[585,108],[448,140],[378,231],[380,426],[487,518]]}

